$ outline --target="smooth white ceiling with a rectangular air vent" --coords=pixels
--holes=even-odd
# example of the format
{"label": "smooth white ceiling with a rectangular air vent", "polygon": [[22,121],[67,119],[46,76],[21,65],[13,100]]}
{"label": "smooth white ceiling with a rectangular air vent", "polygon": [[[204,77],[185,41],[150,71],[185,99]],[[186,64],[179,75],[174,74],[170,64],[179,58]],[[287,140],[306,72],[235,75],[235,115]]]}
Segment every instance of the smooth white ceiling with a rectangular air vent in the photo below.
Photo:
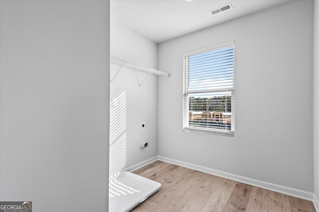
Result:
{"label": "smooth white ceiling with a rectangular air vent", "polygon": [[[111,24],[116,22],[161,43],[290,0],[111,0]],[[211,9],[231,3],[216,15]]]}

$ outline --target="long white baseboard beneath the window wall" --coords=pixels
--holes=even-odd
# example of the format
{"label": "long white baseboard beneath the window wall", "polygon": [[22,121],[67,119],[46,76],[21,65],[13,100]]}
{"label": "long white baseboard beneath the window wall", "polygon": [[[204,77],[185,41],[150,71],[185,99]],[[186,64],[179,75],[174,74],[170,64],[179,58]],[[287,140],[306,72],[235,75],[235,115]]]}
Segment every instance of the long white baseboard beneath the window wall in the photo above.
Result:
{"label": "long white baseboard beneath the window wall", "polygon": [[[279,192],[282,194],[290,195],[293,197],[301,198],[304,200],[313,201],[315,199],[314,198],[315,196],[313,193],[307,192],[307,191],[302,191],[299,189],[294,189],[294,188],[281,186],[281,185],[277,185],[277,184],[273,184],[273,183],[269,183],[269,182],[265,182],[265,181],[260,181],[260,180],[256,180],[256,179],[252,179],[252,178],[248,178],[248,177],[244,177],[244,176],[240,176],[240,175],[236,175],[236,174],[231,174],[228,172],[219,171],[219,170],[212,169],[212,168],[207,168],[204,166],[199,166],[199,165],[195,165],[192,163],[187,163],[187,162],[183,162],[180,160],[171,159],[168,157],[158,156],[158,160],[163,161],[163,162],[167,162],[167,163],[172,163],[172,164],[179,165],[179,166],[183,166],[186,168],[194,169],[194,170],[201,171],[201,172],[204,172],[207,174],[212,174],[212,175],[216,175],[216,176],[223,177],[226,179],[234,180],[237,182],[245,183],[248,185],[260,187],[263,189],[267,189],[267,190]],[[316,202],[317,202],[316,204],[318,207],[318,200],[316,200]],[[314,205],[315,205],[315,201],[314,201]],[[317,208],[316,208],[316,210],[317,210],[317,212],[319,212]]]}

